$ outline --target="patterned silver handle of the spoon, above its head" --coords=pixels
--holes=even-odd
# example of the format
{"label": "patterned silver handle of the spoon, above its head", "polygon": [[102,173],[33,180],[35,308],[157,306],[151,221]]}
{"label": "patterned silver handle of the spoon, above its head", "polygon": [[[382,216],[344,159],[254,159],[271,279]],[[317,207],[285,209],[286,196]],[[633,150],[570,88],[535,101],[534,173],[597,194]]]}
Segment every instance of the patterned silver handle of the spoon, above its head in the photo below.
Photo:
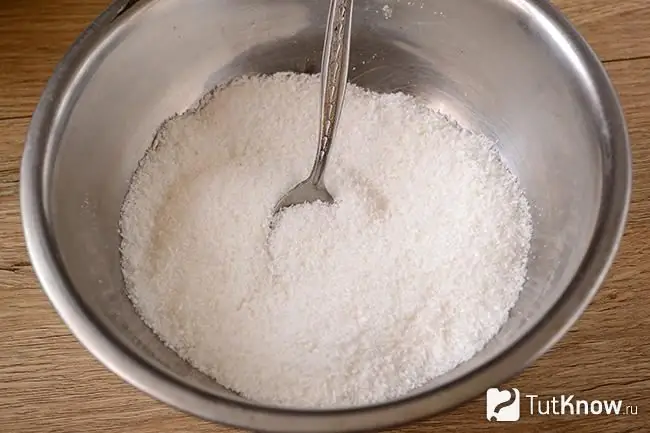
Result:
{"label": "patterned silver handle of the spoon, above its head", "polygon": [[321,185],[332,139],[343,107],[350,63],[353,0],[332,0],[321,64],[321,113],[318,152],[309,180]]}

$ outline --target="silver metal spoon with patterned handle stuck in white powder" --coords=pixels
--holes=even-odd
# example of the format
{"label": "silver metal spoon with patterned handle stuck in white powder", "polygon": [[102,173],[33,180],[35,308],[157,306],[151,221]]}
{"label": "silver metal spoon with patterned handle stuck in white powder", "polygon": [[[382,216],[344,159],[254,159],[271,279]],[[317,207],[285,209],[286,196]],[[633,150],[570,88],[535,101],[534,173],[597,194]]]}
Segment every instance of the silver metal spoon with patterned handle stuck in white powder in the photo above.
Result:
{"label": "silver metal spoon with patterned handle stuck in white powder", "polygon": [[323,183],[323,174],[341,115],[348,79],[352,3],[353,0],[332,0],[330,3],[321,61],[321,119],[316,159],[309,177],[280,199],[273,210],[274,215],[297,204],[316,201],[334,202],[334,198]]}

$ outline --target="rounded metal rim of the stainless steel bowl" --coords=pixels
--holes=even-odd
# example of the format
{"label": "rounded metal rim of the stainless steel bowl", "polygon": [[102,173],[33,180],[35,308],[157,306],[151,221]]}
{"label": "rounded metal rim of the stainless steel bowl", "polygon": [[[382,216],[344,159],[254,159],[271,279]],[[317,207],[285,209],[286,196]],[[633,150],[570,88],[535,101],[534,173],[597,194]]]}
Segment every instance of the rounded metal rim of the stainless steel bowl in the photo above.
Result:
{"label": "rounded metal rim of the stainless steel bowl", "polygon": [[[610,202],[601,211],[578,272],[547,314],[526,334],[483,365],[438,388],[372,406],[296,410],[230,400],[199,390],[149,365],[93,319],[72,289],[48,231],[44,206],[45,160],[52,126],[60,108],[71,103],[80,70],[102,38],[114,34],[129,17],[158,0],[117,0],[79,36],[56,67],[29,125],[21,162],[20,206],[30,261],[50,302],[75,337],[107,368],[150,396],[203,419],[268,432],[355,432],[389,428],[445,412],[519,374],[559,340],[580,317],[609,271],[624,232],[631,196],[632,161],[629,136],[616,91],[596,54],[569,21],[545,0],[517,0],[551,23],[570,42],[577,60],[596,83],[605,101],[611,131],[615,181],[603,185]],[[125,19],[119,19],[125,15]],[[605,192],[604,192],[605,195]]]}

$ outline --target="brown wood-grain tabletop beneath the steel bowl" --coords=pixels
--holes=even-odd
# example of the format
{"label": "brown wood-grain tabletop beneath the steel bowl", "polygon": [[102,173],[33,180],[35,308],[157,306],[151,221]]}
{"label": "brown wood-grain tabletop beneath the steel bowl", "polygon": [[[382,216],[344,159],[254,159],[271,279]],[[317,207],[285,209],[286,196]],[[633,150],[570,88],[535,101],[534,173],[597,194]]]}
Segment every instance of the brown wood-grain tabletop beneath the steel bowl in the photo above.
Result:
{"label": "brown wood-grain tabletop beneath the steel bowl", "polygon": [[[480,0],[476,0],[480,1]],[[638,415],[485,420],[483,397],[402,432],[650,431],[650,0],[557,0],[601,57],[632,138],[634,192],[606,284],[569,334],[510,386],[544,396],[622,399]],[[21,231],[23,139],[39,94],[70,43],[107,0],[0,1],[0,430],[232,431],[184,415],[92,358],[50,307]]]}

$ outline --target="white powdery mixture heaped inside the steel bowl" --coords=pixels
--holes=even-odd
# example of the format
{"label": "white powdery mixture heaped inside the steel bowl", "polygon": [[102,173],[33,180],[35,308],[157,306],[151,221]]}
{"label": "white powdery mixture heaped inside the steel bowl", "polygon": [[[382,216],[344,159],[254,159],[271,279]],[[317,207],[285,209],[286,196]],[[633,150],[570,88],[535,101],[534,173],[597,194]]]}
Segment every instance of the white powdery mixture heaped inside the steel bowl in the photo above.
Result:
{"label": "white powdery mixture heaped inside the steel bowl", "polygon": [[350,86],[331,206],[273,206],[314,157],[320,79],[239,79],[168,121],[125,199],[136,308],[253,400],[395,398],[471,358],[526,276],[531,220],[493,143],[403,94]]}

